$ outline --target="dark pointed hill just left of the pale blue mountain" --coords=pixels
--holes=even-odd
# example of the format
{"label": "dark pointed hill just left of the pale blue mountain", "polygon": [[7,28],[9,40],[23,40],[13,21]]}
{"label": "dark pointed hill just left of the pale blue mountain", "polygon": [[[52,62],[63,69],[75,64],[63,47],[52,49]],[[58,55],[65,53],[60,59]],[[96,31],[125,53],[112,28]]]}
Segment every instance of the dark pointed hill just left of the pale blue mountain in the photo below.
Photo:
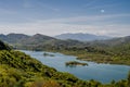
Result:
{"label": "dark pointed hill just left of the pale blue mountain", "polygon": [[29,50],[47,50],[47,49],[63,49],[74,46],[83,46],[83,42],[78,40],[61,40],[44,35],[34,35],[28,39],[21,41],[21,45],[16,45],[18,49]]}

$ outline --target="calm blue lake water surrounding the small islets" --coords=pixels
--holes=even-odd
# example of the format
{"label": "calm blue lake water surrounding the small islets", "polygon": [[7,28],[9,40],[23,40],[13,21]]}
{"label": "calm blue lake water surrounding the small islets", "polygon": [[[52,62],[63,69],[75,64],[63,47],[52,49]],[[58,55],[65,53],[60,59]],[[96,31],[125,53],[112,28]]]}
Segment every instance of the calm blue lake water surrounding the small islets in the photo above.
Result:
{"label": "calm blue lake water surrounding the small islets", "polygon": [[[23,50],[22,50],[23,51]],[[110,80],[120,80],[127,78],[130,66],[127,65],[115,65],[115,64],[98,64],[94,62],[87,62],[76,60],[76,57],[65,55],[62,53],[52,53],[54,57],[44,57],[43,51],[23,51],[30,57],[41,61],[43,64],[54,67],[61,72],[68,72],[81,79],[95,79],[102,83],[110,83]],[[79,61],[88,63],[88,66],[66,66],[65,62]]]}

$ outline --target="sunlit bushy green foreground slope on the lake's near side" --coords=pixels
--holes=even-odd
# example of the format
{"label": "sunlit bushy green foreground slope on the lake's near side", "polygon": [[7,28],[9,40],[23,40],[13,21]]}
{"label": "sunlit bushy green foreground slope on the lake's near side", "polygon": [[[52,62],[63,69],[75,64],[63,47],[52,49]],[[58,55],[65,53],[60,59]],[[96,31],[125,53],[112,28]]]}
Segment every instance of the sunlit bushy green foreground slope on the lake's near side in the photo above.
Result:
{"label": "sunlit bushy green foreground slope on the lake's near side", "polygon": [[128,87],[128,79],[102,85],[81,80],[68,73],[57,72],[29,55],[9,49],[0,41],[0,87]]}

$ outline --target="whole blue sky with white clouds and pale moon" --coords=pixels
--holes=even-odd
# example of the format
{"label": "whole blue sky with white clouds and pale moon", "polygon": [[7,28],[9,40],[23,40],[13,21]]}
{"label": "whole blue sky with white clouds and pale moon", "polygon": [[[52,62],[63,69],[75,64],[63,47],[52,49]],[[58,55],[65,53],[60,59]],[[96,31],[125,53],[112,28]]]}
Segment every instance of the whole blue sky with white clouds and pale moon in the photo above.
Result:
{"label": "whole blue sky with white clouds and pale moon", "polygon": [[130,36],[130,0],[0,0],[0,34]]}

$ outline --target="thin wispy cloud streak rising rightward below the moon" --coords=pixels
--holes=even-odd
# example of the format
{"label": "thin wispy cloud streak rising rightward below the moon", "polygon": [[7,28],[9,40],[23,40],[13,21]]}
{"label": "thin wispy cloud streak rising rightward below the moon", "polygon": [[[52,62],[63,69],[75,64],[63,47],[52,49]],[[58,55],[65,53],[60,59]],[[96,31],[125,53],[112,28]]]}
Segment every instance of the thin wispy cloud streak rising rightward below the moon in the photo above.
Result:
{"label": "thin wispy cloud streak rising rightward below the moon", "polygon": [[73,23],[73,22],[104,22],[105,20],[114,20],[118,17],[130,17],[130,14],[105,14],[105,15],[87,15],[87,16],[74,16],[74,17],[66,17],[66,18],[54,18],[54,20],[47,20],[46,23]]}

